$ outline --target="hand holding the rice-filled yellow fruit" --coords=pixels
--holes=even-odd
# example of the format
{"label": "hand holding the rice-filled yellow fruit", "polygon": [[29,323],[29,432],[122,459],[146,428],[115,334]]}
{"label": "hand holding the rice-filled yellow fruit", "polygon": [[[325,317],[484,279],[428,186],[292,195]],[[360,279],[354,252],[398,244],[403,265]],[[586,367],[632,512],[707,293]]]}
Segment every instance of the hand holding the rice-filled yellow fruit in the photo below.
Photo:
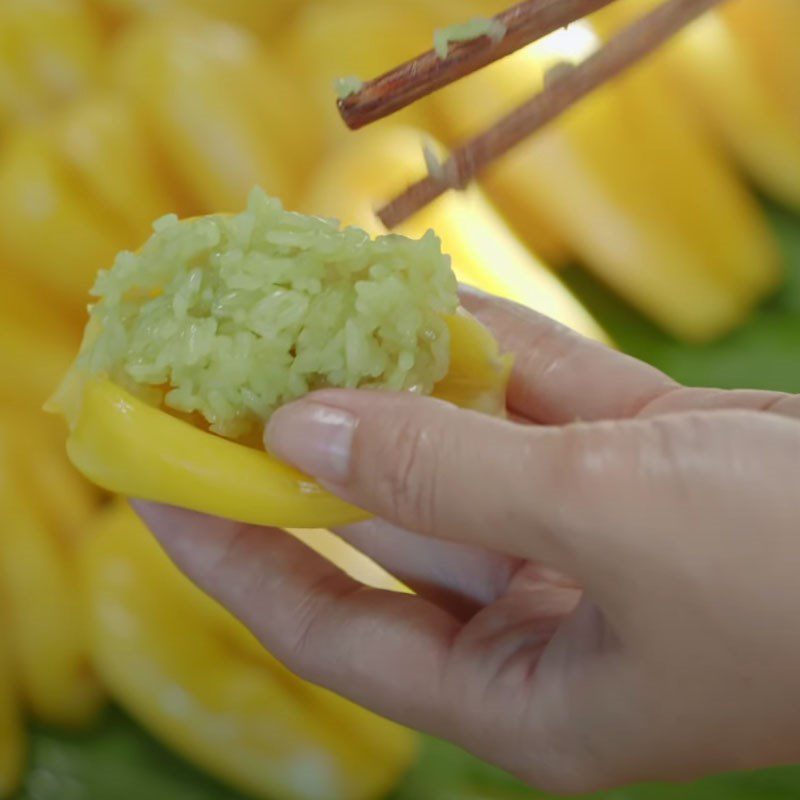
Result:
{"label": "hand holding the rice-filled yellow fruit", "polygon": [[534,312],[464,304],[518,354],[510,421],[325,391],[276,455],[379,518],[297,540],[139,504],[178,566],[301,677],[578,793],[800,758],[800,398],[689,389]]}

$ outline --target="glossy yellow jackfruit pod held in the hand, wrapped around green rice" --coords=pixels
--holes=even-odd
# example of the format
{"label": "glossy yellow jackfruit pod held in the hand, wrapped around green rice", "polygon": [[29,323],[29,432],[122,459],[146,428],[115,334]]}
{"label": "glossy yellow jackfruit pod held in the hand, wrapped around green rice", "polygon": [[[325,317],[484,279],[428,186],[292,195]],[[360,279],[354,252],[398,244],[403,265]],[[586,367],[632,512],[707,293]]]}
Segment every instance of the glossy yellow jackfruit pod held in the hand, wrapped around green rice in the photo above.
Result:
{"label": "glossy yellow jackfruit pod held in the hand, wrapped around green rice", "polygon": [[[491,336],[475,332],[481,326],[472,318],[450,325],[455,355],[440,384],[447,399],[501,413],[508,359]],[[176,419],[102,377],[72,372],[49,410],[70,425],[67,452],[75,467],[112,492],[287,528],[330,528],[367,516],[265,451]]]}

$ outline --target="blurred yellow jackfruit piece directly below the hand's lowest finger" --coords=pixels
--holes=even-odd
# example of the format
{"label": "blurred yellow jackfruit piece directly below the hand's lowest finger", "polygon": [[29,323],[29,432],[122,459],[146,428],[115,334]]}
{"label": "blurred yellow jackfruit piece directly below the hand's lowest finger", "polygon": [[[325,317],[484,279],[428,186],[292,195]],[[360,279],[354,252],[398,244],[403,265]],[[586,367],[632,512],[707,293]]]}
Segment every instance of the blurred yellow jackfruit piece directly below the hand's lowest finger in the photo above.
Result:
{"label": "blurred yellow jackfruit piece directly below the hand's lowest finger", "polygon": [[213,774],[257,797],[369,800],[414,759],[413,734],[289,674],[180,575],[127,508],[101,520],[83,556],[103,678]]}

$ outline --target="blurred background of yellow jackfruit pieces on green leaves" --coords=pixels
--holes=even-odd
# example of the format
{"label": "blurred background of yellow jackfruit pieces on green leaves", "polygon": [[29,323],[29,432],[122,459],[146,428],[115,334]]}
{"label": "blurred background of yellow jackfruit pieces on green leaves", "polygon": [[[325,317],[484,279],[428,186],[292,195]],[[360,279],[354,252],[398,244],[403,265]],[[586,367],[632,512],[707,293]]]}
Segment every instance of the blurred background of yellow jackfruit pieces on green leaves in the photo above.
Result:
{"label": "blurred background of yellow jackfruit pieces on green leaves", "polygon": [[[489,0],[0,0],[0,797],[541,797],[288,675],[189,586],[39,409],[88,289],[154,219],[259,184],[379,232],[373,209],[584,58],[617,0],[359,133],[338,77],[428,49]],[[800,3],[729,0],[439,200],[462,280],[690,384],[800,391]],[[391,585],[331,536],[306,535]],[[800,768],[607,800],[800,796]]]}

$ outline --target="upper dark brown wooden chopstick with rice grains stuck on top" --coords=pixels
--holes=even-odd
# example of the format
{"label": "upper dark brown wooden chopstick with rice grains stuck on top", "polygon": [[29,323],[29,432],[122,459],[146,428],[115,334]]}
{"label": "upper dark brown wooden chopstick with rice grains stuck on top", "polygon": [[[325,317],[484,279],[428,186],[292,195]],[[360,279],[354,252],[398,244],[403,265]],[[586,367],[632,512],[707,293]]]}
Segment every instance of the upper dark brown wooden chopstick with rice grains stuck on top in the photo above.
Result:
{"label": "upper dark brown wooden chopstick with rice grains stuck on top", "polygon": [[506,30],[500,41],[454,43],[446,59],[429,50],[339,100],[339,112],[353,130],[377,122],[613,1],[525,0],[495,17]]}

